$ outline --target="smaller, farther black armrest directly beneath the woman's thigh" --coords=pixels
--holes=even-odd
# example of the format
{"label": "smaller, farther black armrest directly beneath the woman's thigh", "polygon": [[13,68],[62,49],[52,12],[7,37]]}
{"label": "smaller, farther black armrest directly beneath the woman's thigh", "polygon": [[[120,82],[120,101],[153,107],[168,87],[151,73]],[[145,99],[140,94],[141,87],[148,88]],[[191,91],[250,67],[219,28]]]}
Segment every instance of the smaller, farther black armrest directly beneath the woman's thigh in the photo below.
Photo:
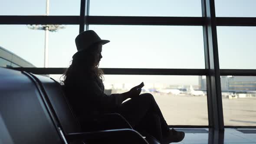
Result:
{"label": "smaller, farther black armrest directly beneath the woman's thigh", "polygon": [[103,123],[105,129],[133,129],[123,116],[116,113],[101,115],[97,121]]}

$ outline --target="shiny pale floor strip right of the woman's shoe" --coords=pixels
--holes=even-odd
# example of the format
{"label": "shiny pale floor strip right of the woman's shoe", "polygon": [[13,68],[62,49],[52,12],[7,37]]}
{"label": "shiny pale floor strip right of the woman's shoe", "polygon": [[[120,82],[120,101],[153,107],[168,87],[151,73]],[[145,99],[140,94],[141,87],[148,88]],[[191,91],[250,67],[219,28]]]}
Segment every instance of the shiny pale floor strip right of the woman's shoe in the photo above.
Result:
{"label": "shiny pale floor strip right of the woman's shoe", "polygon": [[176,130],[186,134],[183,141],[173,144],[256,144],[256,129],[225,128],[224,133],[208,128]]}

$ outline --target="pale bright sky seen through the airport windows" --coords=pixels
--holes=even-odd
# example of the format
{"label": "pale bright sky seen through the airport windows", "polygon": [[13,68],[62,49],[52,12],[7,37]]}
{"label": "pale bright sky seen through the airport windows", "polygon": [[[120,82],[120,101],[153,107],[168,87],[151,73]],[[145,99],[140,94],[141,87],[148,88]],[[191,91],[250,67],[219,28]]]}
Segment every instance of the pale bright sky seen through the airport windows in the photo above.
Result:
{"label": "pale bright sky seen through the airport windows", "polygon": [[[49,0],[49,15],[79,15],[80,0]],[[202,16],[201,0],[90,0],[90,15]],[[256,17],[256,0],[215,0],[216,16]],[[0,15],[44,15],[46,0],[1,0]],[[102,39],[102,68],[204,69],[202,26],[90,25]],[[78,25],[49,33],[49,67],[68,67]],[[217,27],[221,69],[256,69],[256,27]],[[0,25],[0,46],[43,67],[44,31]],[[114,78],[115,77],[115,78]],[[158,76],[144,76],[144,80]],[[162,83],[197,85],[197,76],[160,76]],[[132,77],[122,76],[128,80]],[[109,78],[110,79],[110,78]],[[111,79],[119,80],[119,76]],[[143,81],[143,79],[139,81]],[[107,80],[107,79],[106,79]],[[152,80],[156,81],[156,80]],[[113,81],[114,82],[114,81]]]}

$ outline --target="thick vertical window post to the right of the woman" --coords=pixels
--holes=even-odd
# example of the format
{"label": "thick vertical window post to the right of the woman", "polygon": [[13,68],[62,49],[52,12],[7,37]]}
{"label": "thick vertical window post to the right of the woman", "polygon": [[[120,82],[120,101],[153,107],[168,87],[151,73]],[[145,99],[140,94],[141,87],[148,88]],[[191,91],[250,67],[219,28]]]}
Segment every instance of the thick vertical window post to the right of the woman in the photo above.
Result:
{"label": "thick vertical window post to the right of the woman", "polygon": [[214,0],[202,0],[202,15],[205,18],[203,26],[205,68],[209,70],[207,75],[209,127],[222,131],[224,123]]}

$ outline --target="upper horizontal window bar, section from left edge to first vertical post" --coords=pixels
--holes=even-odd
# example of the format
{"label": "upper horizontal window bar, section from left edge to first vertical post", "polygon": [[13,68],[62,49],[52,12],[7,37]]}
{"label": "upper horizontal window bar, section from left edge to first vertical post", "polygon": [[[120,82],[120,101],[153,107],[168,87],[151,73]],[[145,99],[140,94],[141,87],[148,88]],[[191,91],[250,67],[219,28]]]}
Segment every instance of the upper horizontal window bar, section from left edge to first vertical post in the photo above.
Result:
{"label": "upper horizontal window bar, section from left edge to first vertical post", "polygon": [[0,24],[79,24],[79,16],[0,16]]}

